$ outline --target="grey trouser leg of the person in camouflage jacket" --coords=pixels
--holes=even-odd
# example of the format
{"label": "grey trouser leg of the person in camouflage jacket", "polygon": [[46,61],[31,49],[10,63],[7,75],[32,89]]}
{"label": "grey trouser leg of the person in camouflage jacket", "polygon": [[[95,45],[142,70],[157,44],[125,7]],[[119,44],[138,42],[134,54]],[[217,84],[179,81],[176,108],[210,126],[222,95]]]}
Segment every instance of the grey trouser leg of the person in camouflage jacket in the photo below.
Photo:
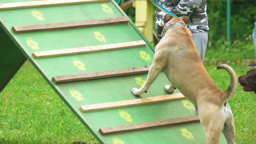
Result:
{"label": "grey trouser leg of the person in camouflage jacket", "polygon": [[197,52],[199,53],[202,62],[204,62],[205,51],[206,51],[206,46],[207,46],[207,41],[208,41],[208,33],[206,31],[199,32],[199,33],[193,33],[192,37],[196,44]]}

